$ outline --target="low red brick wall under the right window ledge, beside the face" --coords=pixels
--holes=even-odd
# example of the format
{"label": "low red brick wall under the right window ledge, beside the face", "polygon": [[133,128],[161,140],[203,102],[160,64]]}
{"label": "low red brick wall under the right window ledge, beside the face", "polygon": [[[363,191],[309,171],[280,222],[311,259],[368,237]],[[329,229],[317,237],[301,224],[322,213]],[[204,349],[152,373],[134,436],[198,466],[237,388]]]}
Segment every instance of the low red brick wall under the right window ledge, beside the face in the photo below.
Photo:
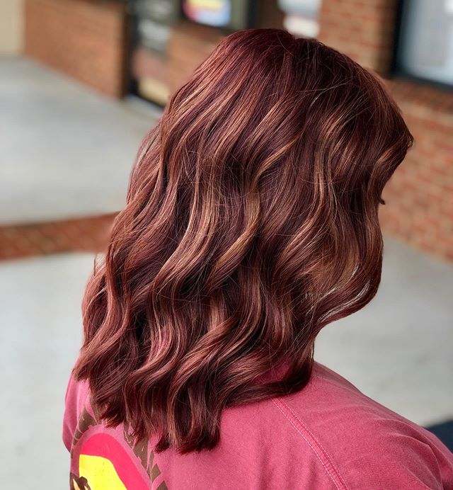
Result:
{"label": "low red brick wall under the right window ledge, beside the face", "polygon": [[453,94],[391,81],[415,145],[384,189],[384,229],[453,261]]}

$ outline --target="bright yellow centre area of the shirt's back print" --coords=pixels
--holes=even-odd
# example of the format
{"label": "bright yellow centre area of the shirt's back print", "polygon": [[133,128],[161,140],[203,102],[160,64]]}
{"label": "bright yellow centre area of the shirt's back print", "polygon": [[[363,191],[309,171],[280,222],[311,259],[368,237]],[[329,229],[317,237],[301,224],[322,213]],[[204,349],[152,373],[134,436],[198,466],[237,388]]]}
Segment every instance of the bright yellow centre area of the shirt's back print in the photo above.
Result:
{"label": "bright yellow centre area of the shirt's back print", "polygon": [[127,490],[105,457],[80,455],[79,475],[90,482],[91,490]]}

